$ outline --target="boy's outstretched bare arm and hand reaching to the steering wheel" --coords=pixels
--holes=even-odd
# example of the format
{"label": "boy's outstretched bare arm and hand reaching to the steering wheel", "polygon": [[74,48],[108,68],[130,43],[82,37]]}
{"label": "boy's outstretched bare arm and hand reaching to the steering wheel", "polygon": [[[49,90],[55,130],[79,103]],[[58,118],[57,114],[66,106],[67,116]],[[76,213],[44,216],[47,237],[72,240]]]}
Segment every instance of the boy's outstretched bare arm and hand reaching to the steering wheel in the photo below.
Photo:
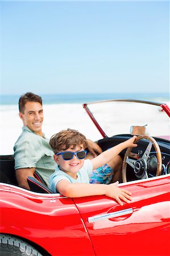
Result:
{"label": "boy's outstretched bare arm and hand reaching to the steering wheel", "polygon": [[117,146],[111,147],[109,150],[106,150],[102,152],[100,155],[96,156],[96,158],[91,159],[90,161],[92,162],[93,170],[108,163],[111,159],[114,158],[114,156],[118,155],[126,147],[138,146],[137,144],[134,144],[135,139],[136,136],[128,139],[125,142],[118,144]]}

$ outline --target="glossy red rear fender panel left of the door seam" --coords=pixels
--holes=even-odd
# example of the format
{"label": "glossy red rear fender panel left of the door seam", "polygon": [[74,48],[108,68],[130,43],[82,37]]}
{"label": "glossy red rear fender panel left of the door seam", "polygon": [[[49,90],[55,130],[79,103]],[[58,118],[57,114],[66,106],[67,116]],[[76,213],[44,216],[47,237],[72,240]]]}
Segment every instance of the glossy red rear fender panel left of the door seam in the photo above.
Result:
{"label": "glossy red rear fender panel left of the door seam", "polygon": [[88,232],[72,199],[1,191],[1,233],[26,238],[51,255],[94,255]]}

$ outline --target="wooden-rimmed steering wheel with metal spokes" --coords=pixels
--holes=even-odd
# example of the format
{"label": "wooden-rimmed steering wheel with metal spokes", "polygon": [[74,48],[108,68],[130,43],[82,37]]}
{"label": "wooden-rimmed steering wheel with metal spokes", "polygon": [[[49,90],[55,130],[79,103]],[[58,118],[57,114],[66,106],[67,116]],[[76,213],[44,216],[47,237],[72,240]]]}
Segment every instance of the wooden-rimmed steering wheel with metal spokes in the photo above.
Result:
{"label": "wooden-rimmed steering wheel with metal spokes", "polygon": [[[127,148],[126,154],[125,154],[124,159],[123,159],[123,166],[122,166],[122,180],[123,180],[123,182],[127,182],[127,177],[126,177],[127,164],[133,168],[134,174],[138,179],[148,178],[147,160],[150,156],[152,145],[154,146],[155,151],[156,151],[156,159],[157,159],[156,176],[161,175],[161,163],[162,163],[162,161],[161,161],[161,151],[160,151],[159,145],[157,144],[157,142],[155,141],[154,138],[152,138],[148,135],[138,136],[135,139],[134,143],[140,141],[140,139],[148,139],[148,141],[150,141],[150,142],[149,142],[146,150],[144,151],[143,155],[140,158],[138,158],[137,160],[129,158],[129,156],[133,155],[133,153],[131,152],[132,147]],[[136,154],[134,154],[134,155],[136,155]]]}

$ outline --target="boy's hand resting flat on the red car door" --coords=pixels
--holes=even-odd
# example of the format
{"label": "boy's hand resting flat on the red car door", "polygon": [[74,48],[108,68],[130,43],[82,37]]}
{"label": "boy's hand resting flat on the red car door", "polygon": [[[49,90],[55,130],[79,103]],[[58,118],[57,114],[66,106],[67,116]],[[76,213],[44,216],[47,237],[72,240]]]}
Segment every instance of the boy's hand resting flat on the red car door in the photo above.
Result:
{"label": "boy's hand resting flat on the red car door", "polygon": [[[131,192],[126,189],[118,188],[118,181],[109,185],[106,185],[106,196],[112,197],[120,205],[123,205],[122,201],[130,203],[131,201]],[[122,201],[121,201],[122,200]]]}

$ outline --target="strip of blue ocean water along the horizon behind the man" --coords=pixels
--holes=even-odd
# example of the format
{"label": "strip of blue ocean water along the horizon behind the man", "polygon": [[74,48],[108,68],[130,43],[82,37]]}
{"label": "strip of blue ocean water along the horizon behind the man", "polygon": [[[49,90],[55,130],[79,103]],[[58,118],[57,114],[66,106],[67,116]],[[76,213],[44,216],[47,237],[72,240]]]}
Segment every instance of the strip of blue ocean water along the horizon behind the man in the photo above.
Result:
{"label": "strip of blue ocean water along the horizon behind the man", "polygon": [[[39,94],[43,104],[83,104],[87,102],[111,100],[111,99],[133,99],[150,100],[155,102],[169,102],[168,93],[87,93],[87,94]],[[20,95],[1,95],[1,105],[18,105]]]}

